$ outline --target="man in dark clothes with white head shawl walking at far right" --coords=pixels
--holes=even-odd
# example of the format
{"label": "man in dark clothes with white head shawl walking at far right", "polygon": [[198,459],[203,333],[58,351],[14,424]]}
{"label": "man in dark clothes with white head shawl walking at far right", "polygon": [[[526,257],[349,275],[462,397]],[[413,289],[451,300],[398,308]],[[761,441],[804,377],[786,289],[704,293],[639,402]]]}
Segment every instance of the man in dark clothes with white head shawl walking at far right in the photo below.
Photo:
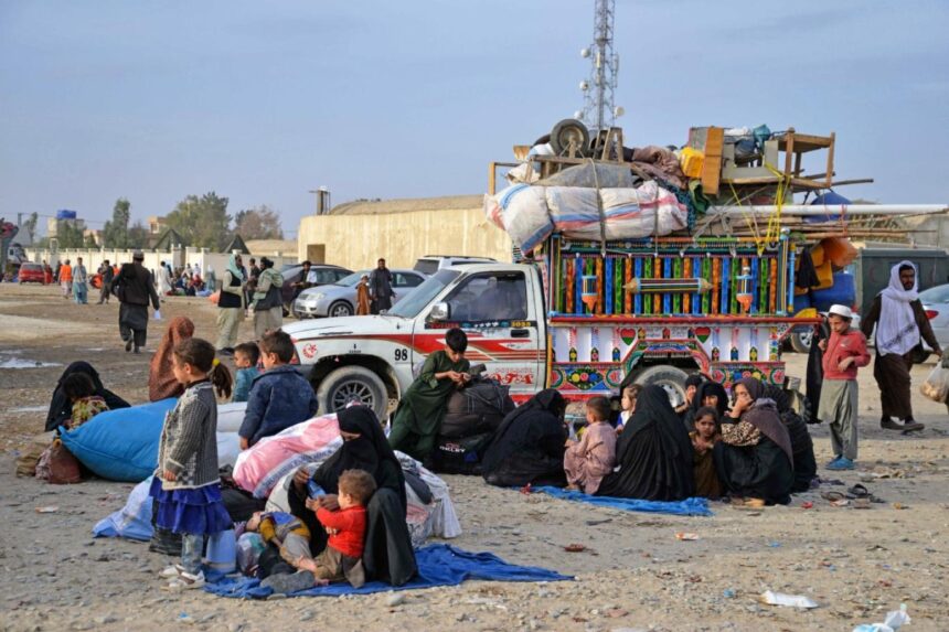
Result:
{"label": "man in dark clothes with white head shawl walking at far right", "polygon": [[[923,430],[926,426],[913,419],[909,396],[909,369],[914,352],[920,351],[920,338],[938,354],[942,349],[932,334],[932,326],[917,293],[916,266],[899,261],[889,270],[889,285],[873,299],[870,313],[860,329],[870,336],[876,325],[876,362],[873,377],[879,386],[883,417],[879,427],[887,430]],[[824,385],[825,386],[825,385]],[[893,417],[903,420],[903,425]]]}

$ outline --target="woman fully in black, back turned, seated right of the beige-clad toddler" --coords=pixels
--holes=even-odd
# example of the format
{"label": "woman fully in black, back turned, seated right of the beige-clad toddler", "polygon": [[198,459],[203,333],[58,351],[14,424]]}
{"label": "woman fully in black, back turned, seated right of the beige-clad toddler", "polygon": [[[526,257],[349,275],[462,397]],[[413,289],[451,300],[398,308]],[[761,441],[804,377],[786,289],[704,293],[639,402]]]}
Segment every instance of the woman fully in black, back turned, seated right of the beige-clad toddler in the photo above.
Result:
{"label": "woman fully in black, back turned, seated right of the beige-clad toddler", "polygon": [[617,470],[607,474],[598,496],[681,501],[695,495],[693,449],[682,419],[665,390],[647,386],[616,446]]}

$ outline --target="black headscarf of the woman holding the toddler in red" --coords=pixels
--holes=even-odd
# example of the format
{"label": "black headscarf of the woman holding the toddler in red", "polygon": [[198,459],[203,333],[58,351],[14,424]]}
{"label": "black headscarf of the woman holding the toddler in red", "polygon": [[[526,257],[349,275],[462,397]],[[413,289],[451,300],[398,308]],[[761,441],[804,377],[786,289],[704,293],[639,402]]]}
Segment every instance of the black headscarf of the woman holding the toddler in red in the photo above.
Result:
{"label": "black headscarf of the woman holding the toddler in red", "polygon": [[[320,465],[313,480],[328,493],[335,494],[339,492],[340,474],[346,470],[365,470],[375,479],[377,488],[392,488],[405,507],[405,474],[402,472],[402,464],[372,409],[367,406],[350,406],[340,410],[337,419],[341,431],[358,433],[360,437],[344,441],[342,447]],[[386,463],[390,464],[388,468],[384,467]],[[392,473],[396,473],[396,478],[386,479],[386,474]]]}

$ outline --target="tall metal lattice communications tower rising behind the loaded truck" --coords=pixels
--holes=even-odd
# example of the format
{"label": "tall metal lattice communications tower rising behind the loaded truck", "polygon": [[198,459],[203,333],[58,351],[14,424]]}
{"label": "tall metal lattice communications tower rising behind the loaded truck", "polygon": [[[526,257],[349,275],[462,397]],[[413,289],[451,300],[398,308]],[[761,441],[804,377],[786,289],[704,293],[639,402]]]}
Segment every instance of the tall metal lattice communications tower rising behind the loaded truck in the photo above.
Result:
{"label": "tall metal lattice communications tower rising behind the loaded truck", "polygon": [[619,74],[619,56],[612,49],[615,18],[616,0],[595,0],[594,43],[580,51],[580,56],[590,57],[593,67],[589,81],[580,82],[584,109],[577,117],[590,131],[611,127],[616,117],[622,114],[622,108],[614,104]]}

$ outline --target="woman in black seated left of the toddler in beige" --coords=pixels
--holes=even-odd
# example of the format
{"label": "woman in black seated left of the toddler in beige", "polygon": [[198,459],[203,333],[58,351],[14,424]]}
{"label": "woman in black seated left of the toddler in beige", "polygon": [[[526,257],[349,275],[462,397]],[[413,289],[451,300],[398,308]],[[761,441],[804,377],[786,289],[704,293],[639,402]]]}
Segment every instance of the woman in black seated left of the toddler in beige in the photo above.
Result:
{"label": "woman in black seated left of the toddler in beige", "polygon": [[499,488],[567,484],[564,452],[566,401],[541,390],[504,417],[481,459],[481,475]]}

